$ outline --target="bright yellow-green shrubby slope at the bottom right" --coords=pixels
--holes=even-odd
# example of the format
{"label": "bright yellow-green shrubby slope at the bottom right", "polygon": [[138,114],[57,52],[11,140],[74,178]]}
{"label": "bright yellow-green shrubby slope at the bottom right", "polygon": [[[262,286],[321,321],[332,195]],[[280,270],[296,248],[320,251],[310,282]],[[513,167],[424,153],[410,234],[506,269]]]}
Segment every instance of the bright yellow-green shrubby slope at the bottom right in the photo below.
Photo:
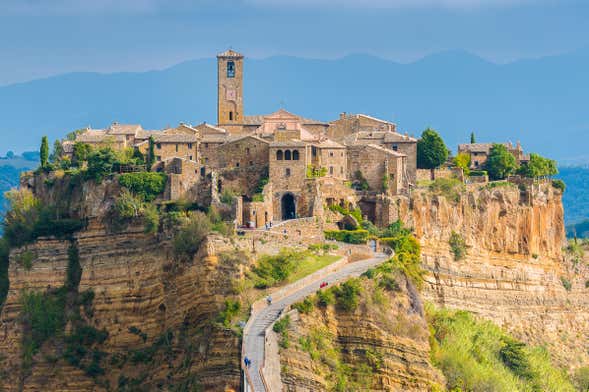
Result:
{"label": "bright yellow-green shrubby slope at the bottom right", "polygon": [[432,362],[449,390],[574,391],[566,373],[542,347],[513,338],[465,311],[427,306]]}

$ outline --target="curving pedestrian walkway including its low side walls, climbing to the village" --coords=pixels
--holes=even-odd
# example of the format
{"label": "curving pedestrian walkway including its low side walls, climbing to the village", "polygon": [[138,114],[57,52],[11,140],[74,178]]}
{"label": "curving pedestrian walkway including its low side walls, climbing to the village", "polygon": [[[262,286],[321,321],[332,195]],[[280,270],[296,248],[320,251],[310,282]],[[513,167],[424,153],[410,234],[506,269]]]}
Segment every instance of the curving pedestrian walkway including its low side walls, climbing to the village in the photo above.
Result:
{"label": "curving pedestrian walkway including its low side walls, climbing to the village", "polygon": [[[280,365],[273,363],[279,358],[267,357],[266,330],[274,324],[287,307],[314,294],[320,289],[322,282],[327,282],[330,287],[335,283],[360,276],[368,269],[389,258],[390,255],[376,254],[373,258],[352,263],[348,263],[346,258],[342,258],[274,292],[272,304],[268,305],[265,298],[256,301],[252,305],[250,318],[243,330],[241,366],[244,370],[244,391],[278,392],[274,391],[274,388],[271,389],[268,384],[268,380],[280,379]],[[246,356],[251,361],[249,367],[244,366]],[[269,366],[264,366],[265,363],[268,363]],[[278,374],[274,374],[277,372]]]}

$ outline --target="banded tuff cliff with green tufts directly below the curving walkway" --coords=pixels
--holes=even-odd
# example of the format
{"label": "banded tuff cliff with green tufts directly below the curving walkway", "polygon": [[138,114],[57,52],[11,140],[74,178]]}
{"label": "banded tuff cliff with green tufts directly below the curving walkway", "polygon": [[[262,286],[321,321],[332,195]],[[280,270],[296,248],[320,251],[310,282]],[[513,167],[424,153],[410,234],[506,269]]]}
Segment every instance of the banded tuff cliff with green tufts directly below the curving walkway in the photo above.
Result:
{"label": "banded tuff cliff with green tufts directly below the curving walkway", "polygon": [[393,289],[378,278],[359,282],[352,311],[316,305],[292,315],[288,348],[280,352],[284,389],[427,391],[443,385],[430,363],[429,330],[413,284],[402,274]]}

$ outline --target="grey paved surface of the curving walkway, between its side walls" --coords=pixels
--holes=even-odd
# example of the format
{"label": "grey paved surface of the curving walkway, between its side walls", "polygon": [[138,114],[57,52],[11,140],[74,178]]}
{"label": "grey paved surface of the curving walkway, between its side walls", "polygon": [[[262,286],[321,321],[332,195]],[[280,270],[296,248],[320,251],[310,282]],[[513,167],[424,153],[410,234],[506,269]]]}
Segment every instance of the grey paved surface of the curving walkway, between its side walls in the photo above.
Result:
{"label": "grey paved surface of the curving walkway, between its side walls", "polygon": [[[360,276],[366,270],[381,264],[387,260],[390,256],[384,254],[378,254],[372,259],[357,261],[354,263],[346,264],[338,271],[334,271],[326,278],[319,279],[307,286],[301,287],[299,290],[292,294],[278,300],[272,305],[268,306],[261,312],[259,312],[252,320],[251,329],[243,337],[243,344],[245,345],[245,355],[252,361],[251,367],[249,368],[249,375],[252,381],[254,392],[265,392],[266,388],[262,382],[260,376],[260,366],[264,360],[264,333],[280,315],[280,312],[288,305],[292,305],[305,297],[314,294],[319,290],[321,282],[329,283],[329,286],[336,282],[346,280],[351,277]],[[328,287],[329,287],[328,286]],[[246,390],[252,390],[246,389]]]}

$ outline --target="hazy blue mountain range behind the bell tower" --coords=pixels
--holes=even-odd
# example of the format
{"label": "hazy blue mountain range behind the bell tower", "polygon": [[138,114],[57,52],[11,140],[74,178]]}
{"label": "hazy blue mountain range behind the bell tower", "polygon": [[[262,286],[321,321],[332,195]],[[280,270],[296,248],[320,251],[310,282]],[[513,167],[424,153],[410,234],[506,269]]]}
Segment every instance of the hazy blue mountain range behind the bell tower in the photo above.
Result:
{"label": "hazy blue mountain range behind the bell tower", "polygon": [[[448,144],[520,139],[561,162],[589,162],[589,49],[506,65],[453,51],[400,64],[367,55],[337,60],[246,59],[246,114],[281,102],[320,120],[340,112],[392,119],[402,132],[437,128]],[[215,121],[214,59],[144,73],[72,73],[0,87],[2,146],[36,149],[112,121],[162,128]],[[5,153],[5,151],[0,151]]]}

